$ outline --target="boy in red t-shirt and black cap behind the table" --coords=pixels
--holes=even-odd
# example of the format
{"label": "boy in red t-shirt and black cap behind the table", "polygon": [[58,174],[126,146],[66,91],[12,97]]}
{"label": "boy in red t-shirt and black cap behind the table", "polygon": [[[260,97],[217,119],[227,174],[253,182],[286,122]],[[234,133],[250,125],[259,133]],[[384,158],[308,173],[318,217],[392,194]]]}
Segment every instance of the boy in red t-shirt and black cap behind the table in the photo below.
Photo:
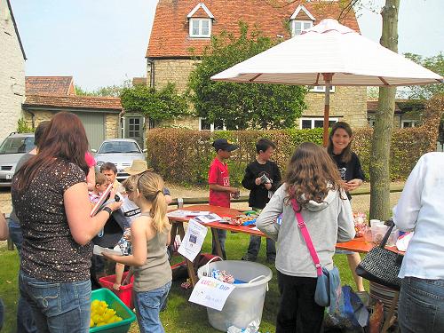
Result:
{"label": "boy in red t-shirt and black cap behind the table", "polygon": [[[212,146],[216,149],[217,155],[210,164],[210,170],[208,171],[209,202],[210,205],[230,208],[230,195],[239,195],[239,189],[230,186],[230,174],[224,161],[230,158],[231,152],[237,149],[237,146],[229,143],[226,139],[217,139]],[[226,230],[217,229],[216,231],[222,248],[222,257],[226,259]],[[214,239],[212,240],[212,254],[217,254]]]}

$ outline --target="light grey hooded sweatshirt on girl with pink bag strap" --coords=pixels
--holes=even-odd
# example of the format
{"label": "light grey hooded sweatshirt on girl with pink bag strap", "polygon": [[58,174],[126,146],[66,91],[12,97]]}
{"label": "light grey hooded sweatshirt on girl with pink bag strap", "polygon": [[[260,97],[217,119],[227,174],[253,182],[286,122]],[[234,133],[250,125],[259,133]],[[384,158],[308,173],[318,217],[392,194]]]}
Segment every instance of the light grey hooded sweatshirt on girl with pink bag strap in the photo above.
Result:
{"label": "light grey hooded sweatshirt on girl with pink bag strap", "polygon": [[[260,213],[256,225],[277,242],[275,265],[281,274],[316,277],[313,259],[297,226],[293,208],[291,204],[284,203],[286,187],[283,184],[274,193]],[[276,219],[281,213],[281,225],[278,225]],[[338,191],[331,190],[323,202],[310,201],[301,213],[321,266],[332,269],[336,243],[350,241],[355,234],[352,208],[347,195],[344,191],[339,195]]]}

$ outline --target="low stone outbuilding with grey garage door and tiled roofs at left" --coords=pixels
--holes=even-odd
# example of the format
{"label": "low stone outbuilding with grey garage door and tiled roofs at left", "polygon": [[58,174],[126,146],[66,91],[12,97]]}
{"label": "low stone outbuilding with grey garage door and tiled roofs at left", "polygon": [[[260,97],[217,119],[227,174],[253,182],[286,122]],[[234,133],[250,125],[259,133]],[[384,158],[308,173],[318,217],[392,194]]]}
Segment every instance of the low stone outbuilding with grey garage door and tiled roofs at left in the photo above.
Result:
{"label": "low stone outbuilding with grey garage door and tiled roofs at left", "polygon": [[33,128],[57,112],[75,113],[83,123],[92,149],[99,148],[104,139],[122,137],[120,99],[76,96],[72,76],[27,76],[22,108],[25,120]]}

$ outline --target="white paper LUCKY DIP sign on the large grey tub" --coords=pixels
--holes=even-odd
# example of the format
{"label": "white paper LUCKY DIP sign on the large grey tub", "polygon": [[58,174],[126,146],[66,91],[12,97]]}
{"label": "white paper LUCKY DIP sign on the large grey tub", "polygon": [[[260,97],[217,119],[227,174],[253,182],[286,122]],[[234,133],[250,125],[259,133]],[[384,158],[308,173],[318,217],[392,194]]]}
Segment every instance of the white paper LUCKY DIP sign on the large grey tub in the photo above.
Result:
{"label": "white paper LUCKY DIP sign on the large grey tub", "polygon": [[221,311],[226,298],[234,290],[233,284],[218,281],[209,276],[202,276],[194,286],[189,301]]}

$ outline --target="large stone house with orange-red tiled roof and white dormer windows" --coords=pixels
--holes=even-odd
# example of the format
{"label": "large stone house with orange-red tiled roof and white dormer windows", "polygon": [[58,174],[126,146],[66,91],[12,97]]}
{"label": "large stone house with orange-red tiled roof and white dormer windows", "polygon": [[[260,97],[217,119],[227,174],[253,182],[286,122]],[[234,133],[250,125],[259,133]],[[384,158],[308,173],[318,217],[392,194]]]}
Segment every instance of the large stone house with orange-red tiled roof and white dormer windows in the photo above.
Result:
{"label": "large stone house with orange-red tiled roof and white dormer windows", "polygon": [[[275,5],[273,5],[275,4]],[[326,18],[337,19],[339,2],[285,0],[159,0],[147,47],[147,84],[156,89],[176,83],[185,91],[194,69],[194,55],[201,55],[210,37],[226,30],[239,32],[239,21],[257,26],[266,36],[290,38]],[[354,12],[342,24],[360,31]],[[332,87],[330,122],[345,121],[353,127],[367,125],[366,87]],[[299,119],[299,128],[322,127],[324,87],[311,87],[305,97],[307,109]],[[173,123],[199,130],[220,129],[223,125],[205,119],[186,118]]]}

